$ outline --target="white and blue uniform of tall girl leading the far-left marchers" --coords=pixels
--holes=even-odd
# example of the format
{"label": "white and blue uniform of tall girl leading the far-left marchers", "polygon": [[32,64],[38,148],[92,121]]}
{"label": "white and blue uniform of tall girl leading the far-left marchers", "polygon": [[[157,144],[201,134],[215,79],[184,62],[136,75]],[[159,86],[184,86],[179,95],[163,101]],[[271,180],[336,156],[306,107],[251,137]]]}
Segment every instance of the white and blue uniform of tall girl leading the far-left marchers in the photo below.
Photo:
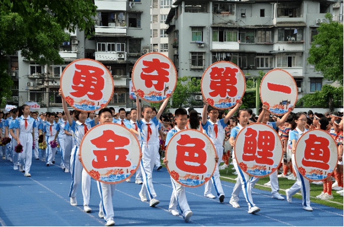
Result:
{"label": "white and blue uniform of tall girl leading the far-left marchers", "polygon": [[10,125],[10,129],[19,129],[19,141],[23,146],[23,151],[19,153],[18,161],[21,166],[25,166],[26,174],[30,172],[31,168],[33,143],[32,132],[34,128],[36,128],[35,120],[30,116],[24,118],[23,115],[16,118]]}

